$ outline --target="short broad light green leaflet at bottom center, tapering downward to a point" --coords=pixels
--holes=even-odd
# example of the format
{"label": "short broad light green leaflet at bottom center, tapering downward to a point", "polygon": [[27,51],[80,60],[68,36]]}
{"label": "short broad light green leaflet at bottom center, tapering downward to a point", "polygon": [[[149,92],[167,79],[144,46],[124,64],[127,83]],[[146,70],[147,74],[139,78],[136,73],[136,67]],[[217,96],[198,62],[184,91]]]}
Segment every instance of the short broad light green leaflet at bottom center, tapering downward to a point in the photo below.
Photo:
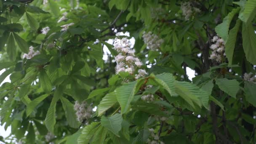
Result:
{"label": "short broad light green leaflet at bottom center, tapering downward to a point", "polygon": [[101,125],[107,128],[109,131],[112,131],[116,136],[118,135],[118,132],[121,130],[122,126],[122,115],[120,114],[115,114],[111,117],[101,117]]}

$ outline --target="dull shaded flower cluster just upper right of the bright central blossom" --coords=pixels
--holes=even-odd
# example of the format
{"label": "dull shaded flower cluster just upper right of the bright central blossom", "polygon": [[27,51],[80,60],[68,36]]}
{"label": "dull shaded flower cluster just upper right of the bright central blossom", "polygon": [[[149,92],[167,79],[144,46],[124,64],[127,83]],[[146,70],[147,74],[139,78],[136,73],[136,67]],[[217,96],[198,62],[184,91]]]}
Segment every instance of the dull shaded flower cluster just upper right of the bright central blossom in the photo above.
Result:
{"label": "dull shaded flower cluster just upper right of the bright central blossom", "polygon": [[152,34],[152,32],[143,32],[143,40],[146,43],[147,48],[152,51],[157,51],[160,48],[160,45],[163,43],[163,40],[160,39],[157,35]]}

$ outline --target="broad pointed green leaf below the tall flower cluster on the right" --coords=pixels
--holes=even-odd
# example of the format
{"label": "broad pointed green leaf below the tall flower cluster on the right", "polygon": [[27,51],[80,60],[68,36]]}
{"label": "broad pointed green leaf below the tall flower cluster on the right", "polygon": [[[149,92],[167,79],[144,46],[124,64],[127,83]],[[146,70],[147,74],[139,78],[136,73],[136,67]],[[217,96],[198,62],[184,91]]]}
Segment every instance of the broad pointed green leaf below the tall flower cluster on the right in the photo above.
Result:
{"label": "broad pointed green leaf below the tall flower cluster on the right", "polygon": [[237,80],[228,80],[227,78],[218,78],[215,80],[221,91],[236,99],[236,94],[240,89]]}

